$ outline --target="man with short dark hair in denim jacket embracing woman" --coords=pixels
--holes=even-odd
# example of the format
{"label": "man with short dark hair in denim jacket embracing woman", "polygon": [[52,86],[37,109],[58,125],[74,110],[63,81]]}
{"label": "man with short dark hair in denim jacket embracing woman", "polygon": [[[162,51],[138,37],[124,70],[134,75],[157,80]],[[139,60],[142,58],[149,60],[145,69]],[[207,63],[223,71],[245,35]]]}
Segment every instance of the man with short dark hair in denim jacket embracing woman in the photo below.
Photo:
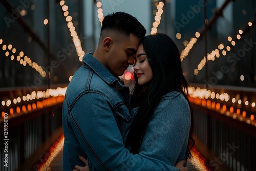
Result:
{"label": "man with short dark hair in denim jacket embracing woman", "polygon": [[118,76],[133,65],[145,32],[130,14],[105,16],[98,47],[83,57],[63,102],[64,170],[84,165],[79,155],[88,159],[90,170],[178,170],[124,148],[130,94]]}

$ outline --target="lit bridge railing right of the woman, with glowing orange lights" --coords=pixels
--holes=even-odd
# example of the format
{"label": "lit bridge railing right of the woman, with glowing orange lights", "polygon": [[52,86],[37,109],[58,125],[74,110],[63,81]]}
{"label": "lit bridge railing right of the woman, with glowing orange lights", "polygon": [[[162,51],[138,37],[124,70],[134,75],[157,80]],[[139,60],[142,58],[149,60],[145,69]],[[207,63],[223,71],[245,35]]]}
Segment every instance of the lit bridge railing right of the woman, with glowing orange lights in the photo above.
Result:
{"label": "lit bridge railing right of the woman, with glowing orange lights", "polygon": [[256,170],[256,89],[192,84],[196,148],[215,170]]}

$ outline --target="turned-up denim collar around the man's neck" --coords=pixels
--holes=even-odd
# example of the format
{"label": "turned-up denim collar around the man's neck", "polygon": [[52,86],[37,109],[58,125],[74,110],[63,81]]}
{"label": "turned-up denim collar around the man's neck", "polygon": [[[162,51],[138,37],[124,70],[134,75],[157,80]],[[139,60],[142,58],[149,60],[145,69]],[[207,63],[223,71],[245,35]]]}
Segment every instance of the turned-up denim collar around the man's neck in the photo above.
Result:
{"label": "turned-up denim collar around the man's neck", "polygon": [[111,72],[106,69],[102,63],[93,56],[93,53],[86,53],[82,58],[82,63],[84,67],[90,68],[93,70],[99,77],[101,77],[106,83],[112,84],[117,81],[121,82],[122,86],[124,85],[123,80],[118,76],[115,77]]}

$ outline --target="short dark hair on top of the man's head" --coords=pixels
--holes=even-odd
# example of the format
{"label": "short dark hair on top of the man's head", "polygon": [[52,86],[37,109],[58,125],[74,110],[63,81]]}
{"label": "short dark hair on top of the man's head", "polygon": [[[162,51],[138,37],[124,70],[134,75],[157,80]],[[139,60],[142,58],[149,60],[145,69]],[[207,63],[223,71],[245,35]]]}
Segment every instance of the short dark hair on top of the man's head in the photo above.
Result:
{"label": "short dark hair on top of the man's head", "polygon": [[103,30],[113,30],[127,36],[130,33],[142,38],[146,33],[146,29],[141,25],[137,18],[125,12],[116,12],[106,15],[102,21]]}

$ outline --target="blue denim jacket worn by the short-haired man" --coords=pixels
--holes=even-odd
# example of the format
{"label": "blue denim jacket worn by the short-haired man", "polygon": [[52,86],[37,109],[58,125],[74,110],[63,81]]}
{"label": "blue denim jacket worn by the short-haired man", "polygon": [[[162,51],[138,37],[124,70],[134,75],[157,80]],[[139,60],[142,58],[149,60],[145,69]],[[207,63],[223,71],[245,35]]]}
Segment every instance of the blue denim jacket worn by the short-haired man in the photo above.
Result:
{"label": "blue denim jacket worn by the short-haired man", "polygon": [[63,102],[63,170],[84,165],[79,154],[88,159],[90,170],[179,170],[124,148],[129,103],[129,88],[92,54],[84,55]]}

